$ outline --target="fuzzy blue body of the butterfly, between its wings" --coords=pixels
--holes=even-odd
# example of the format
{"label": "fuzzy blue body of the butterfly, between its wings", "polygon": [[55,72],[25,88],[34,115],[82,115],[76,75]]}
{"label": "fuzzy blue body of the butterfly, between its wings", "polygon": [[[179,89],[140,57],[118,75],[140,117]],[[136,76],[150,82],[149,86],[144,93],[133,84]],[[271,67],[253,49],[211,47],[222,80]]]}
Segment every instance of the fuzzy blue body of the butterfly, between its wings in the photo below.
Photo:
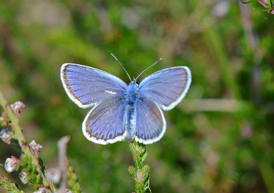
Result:
{"label": "fuzzy blue body of the butterfly, between its wings", "polygon": [[135,137],[136,128],[136,99],[138,98],[138,84],[130,82],[126,89],[125,129],[129,141]]}

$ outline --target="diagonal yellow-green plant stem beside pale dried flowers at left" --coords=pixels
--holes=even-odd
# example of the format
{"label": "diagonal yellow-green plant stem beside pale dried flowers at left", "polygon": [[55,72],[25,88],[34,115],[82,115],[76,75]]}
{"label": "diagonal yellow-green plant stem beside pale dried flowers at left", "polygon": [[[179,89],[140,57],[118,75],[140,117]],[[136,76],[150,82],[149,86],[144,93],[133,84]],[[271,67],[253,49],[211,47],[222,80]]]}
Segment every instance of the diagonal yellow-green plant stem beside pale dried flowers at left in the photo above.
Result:
{"label": "diagonal yellow-green plant stem beside pale dried flowers at left", "polygon": [[18,138],[18,143],[22,148],[22,151],[24,152],[24,154],[29,157],[29,159],[31,159],[31,163],[32,165],[36,166],[37,171],[40,172],[41,174],[41,178],[42,178],[42,183],[45,187],[50,187],[50,190],[53,192],[54,191],[54,187],[50,186],[49,181],[46,179],[46,177],[44,176],[43,172],[41,171],[40,165],[38,160],[35,158],[35,156],[32,154],[29,146],[27,145],[26,139],[23,136],[21,127],[19,125],[19,120],[17,119],[17,117],[14,115],[11,107],[8,105],[7,100],[4,98],[1,90],[0,90],[0,104],[3,107],[4,111],[7,112],[8,117],[10,118],[11,121],[11,126],[15,132],[15,135]]}

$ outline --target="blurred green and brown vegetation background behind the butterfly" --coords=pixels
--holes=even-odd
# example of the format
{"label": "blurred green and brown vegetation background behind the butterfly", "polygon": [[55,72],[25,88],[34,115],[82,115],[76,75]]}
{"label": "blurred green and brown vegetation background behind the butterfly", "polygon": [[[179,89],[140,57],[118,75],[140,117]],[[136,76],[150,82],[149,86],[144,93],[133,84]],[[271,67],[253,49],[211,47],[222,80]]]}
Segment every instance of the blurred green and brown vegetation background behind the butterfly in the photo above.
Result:
{"label": "blurred green and brown vegetation background behind the butterfly", "polygon": [[[186,97],[164,112],[167,131],[146,146],[156,192],[274,192],[274,16],[237,0],[0,1],[0,89],[26,104],[20,123],[57,167],[56,142],[71,136],[68,158],[83,191],[132,192],[128,141],[98,145],[81,124],[88,109],[66,95],[63,63],[95,67],[129,83],[188,66]],[[2,109],[0,109],[2,111]],[[12,145],[0,142],[0,163]],[[18,172],[0,173],[22,185]],[[0,187],[0,192],[7,192]],[[148,191],[147,191],[148,192]]]}

